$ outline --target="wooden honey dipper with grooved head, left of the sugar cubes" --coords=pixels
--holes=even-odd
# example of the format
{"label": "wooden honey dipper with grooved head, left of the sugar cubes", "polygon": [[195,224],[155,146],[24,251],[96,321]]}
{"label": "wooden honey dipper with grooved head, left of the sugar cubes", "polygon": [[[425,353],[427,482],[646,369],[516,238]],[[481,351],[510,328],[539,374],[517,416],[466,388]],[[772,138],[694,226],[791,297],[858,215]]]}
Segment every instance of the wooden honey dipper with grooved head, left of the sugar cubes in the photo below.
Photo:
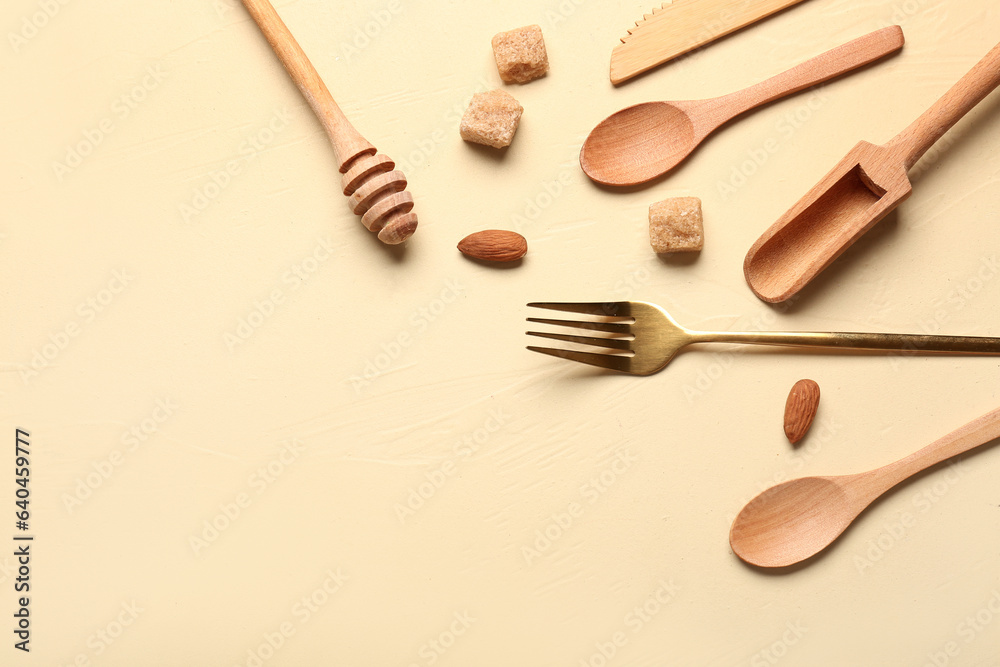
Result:
{"label": "wooden honey dipper with grooved head, left of the sugar cubes", "polygon": [[243,4],[330,137],[351,210],[383,243],[408,239],[417,229],[417,216],[412,211],[413,195],[406,192],[406,176],[395,171],[391,159],[376,155],[375,147],[347,120],[271,3],[243,0]]}

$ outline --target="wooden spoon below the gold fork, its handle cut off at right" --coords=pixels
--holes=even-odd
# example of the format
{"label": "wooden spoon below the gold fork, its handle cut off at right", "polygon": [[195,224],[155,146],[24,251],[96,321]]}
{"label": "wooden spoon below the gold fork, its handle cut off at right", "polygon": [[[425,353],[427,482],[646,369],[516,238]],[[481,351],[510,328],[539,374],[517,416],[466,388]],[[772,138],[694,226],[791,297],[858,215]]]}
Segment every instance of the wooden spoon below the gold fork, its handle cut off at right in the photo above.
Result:
{"label": "wooden spoon below the gold fork, its handle cut off at right", "polygon": [[740,511],[729,544],[751,565],[794,565],[825,549],[868,505],[903,480],[997,437],[1000,409],[881,468],[772,486]]}

